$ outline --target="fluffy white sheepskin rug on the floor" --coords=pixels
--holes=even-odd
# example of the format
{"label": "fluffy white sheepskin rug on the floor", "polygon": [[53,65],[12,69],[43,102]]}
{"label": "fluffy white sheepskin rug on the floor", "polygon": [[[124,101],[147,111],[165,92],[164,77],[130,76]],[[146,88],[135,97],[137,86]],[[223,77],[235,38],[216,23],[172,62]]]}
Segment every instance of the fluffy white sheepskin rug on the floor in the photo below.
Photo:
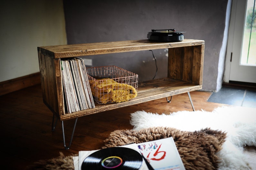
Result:
{"label": "fluffy white sheepskin rug on the floor", "polygon": [[227,133],[223,148],[217,154],[221,158],[219,170],[250,169],[243,154],[243,146],[256,146],[256,109],[245,107],[220,107],[212,112],[178,111],[170,115],[137,111],[131,114],[134,130],[147,127],[174,127],[183,131],[195,131],[210,127]]}

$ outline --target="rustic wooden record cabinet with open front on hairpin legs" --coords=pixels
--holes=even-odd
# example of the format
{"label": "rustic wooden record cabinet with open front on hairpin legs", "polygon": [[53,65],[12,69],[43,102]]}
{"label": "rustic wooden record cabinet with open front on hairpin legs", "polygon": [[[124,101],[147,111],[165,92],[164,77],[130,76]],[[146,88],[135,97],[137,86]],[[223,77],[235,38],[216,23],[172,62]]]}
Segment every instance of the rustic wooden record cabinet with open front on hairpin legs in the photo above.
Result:
{"label": "rustic wooden record cabinet with open front on hairpin legs", "polygon": [[[85,109],[73,113],[65,112],[61,59],[154,49],[168,49],[168,69],[166,70],[166,78],[144,82],[139,81],[138,95],[132,100],[109,104],[95,103],[95,108],[93,109]],[[202,89],[203,40],[184,39],[182,42],[152,42],[149,40],[96,42],[43,46],[37,47],[37,50],[44,104],[62,121],[62,123],[64,120],[71,118],[78,118],[106,110]],[[66,147],[66,149],[68,148]]]}

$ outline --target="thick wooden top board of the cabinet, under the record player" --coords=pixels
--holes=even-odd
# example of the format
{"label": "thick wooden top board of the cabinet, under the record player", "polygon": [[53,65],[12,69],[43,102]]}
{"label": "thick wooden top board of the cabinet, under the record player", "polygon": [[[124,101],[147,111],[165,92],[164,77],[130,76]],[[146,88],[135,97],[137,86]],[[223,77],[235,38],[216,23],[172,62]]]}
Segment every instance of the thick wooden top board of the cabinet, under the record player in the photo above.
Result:
{"label": "thick wooden top board of the cabinet, under the record player", "polygon": [[129,40],[116,42],[95,42],[70,45],[37,47],[37,51],[51,58],[68,58],[118,52],[154,50],[192,45],[204,45],[203,40],[184,39],[181,42],[152,42],[149,40]]}

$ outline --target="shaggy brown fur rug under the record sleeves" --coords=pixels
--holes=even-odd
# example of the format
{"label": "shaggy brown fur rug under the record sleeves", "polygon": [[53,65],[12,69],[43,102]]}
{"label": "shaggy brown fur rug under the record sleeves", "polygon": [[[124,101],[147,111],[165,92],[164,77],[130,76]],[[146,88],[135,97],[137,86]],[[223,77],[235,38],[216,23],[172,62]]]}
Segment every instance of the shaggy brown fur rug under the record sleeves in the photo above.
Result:
{"label": "shaggy brown fur rug under the record sleeves", "polygon": [[[172,127],[151,127],[139,131],[116,130],[104,141],[105,146],[102,148],[147,142],[166,137],[173,137],[186,170],[218,168],[219,157],[216,152],[222,149],[226,133],[209,128],[194,132],[181,131]],[[27,169],[73,170],[73,156],[64,156],[60,153],[57,158],[40,160]]]}

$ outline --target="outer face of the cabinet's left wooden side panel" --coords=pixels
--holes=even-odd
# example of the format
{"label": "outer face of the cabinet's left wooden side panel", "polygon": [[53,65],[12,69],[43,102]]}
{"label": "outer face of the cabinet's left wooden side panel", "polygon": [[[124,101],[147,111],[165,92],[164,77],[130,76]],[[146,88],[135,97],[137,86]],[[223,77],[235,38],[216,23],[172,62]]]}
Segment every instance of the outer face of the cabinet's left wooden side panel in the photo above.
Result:
{"label": "outer face of the cabinet's left wooden side panel", "polygon": [[54,59],[38,52],[38,61],[44,103],[56,116],[58,116],[59,107]]}

